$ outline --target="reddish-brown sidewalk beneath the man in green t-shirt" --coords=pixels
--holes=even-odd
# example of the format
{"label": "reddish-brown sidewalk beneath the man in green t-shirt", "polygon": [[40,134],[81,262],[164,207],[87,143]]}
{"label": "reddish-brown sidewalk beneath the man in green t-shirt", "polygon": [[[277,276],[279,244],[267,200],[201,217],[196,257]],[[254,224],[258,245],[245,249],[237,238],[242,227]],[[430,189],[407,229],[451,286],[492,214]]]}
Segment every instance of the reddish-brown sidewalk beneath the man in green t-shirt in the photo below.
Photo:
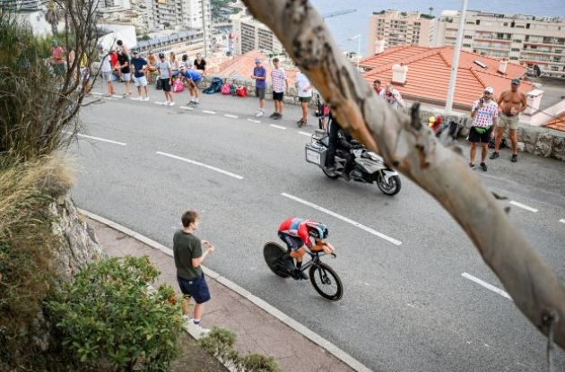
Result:
{"label": "reddish-brown sidewalk beneath the man in green t-shirt", "polygon": [[[143,237],[135,236],[136,238],[133,238],[130,236],[133,232],[127,235],[99,221],[92,219],[86,219],[86,221],[94,229],[100,246],[110,256],[148,255],[152,264],[161,271],[161,275],[155,284],[167,283],[178,291],[175,263],[170,255],[157,248],[150,247],[138,239],[143,240]],[[212,300],[206,304],[204,309],[204,327],[211,328],[215,325],[236,333],[238,337],[236,348],[240,353],[258,352],[272,356],[283,371],[350,372],[369,370],[361,365],[355,369],[349,367],[319,344],[310,341],[303,334],[292,329],[291,326],[284,324],[276,316],[269,314],[248,298],[244,298],[218,281],[226,281],[224,278],[220,277],[216,280],[212,276],[208,274],[207,277],[212,292]],[[230,285],[235,286],[233,283]],[[276,314],[276,310],[274,310],[274,314]],[[324,342],[326,341],[321,339],[320,343]],[[329,346],[329,349],[335,348],[331,344]],[[340,352],[343,353],[344,359],[351,359],[341,350],[335,348],[333,351],[338,355],[340,355]],[[353,365],[358,363],[354,359],[351,359],[351,361]]]}

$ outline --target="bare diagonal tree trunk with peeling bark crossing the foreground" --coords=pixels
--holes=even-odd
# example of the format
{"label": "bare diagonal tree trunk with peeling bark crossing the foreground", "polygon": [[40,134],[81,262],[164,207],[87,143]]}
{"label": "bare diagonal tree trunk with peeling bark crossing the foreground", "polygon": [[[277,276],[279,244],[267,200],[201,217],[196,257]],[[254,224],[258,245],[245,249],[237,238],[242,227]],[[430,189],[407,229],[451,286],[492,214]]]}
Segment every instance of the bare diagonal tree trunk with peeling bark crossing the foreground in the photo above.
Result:
{"label": "bare diagonal tree trunk with peeling bark crossing the foreground", "polygon": [[565,288],[465,161],[420,123],[419,105],[406,117],[378,99],[307,0],[244,3],[274,31],[345,129],[438,200],[520,311],[545,335],[553,324],[555,341],[565,349]]}

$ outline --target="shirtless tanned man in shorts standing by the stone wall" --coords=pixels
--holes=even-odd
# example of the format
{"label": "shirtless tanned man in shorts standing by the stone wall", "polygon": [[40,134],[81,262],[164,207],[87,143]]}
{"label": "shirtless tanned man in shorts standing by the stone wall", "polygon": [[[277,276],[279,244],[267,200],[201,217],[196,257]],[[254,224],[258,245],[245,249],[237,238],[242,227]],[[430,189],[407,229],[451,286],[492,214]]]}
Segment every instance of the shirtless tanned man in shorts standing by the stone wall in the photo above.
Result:
{"label": "shirtless tanned man in shorts standing by the stone wall", "polygon": [[491,159],[496,159],[500,156],[500,139],[504,134],[504,129],[508,126],[508,134],[510,142],[512,143],[512,157],[510,161],[517,162],[517,139],[516,129],[518,124],[518,114],[524,111],[527,107],[526,94],[517,90],[520,85],[519,79],[512,79],[511,88],[509,91],[503,91],[500,94],[498,103],[500,107],[499,125],[496,131],[496,138],[494,140],[494,152],[491,154]]}

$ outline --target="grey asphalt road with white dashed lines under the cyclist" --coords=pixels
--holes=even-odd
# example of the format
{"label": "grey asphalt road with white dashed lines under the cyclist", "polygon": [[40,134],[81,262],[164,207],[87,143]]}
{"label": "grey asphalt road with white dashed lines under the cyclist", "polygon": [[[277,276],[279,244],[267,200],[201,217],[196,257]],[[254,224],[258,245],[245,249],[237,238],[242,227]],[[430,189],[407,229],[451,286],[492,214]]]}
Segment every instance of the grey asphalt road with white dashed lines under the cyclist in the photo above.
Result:
{"label": "grey asphalt road with white dashed lines under the cyclist", "polygon": [[[187,101],[186,93],[182,97]],[[161,93],[152,99],[162,100]],[[297,129],[296,107],[287,106],[284,118],[272,121],[253,117],[256,100],[251,98],[204,95],[193,111],[180,108],[177,100],[176,107],[167,108],[112,99],[83,110],[81,133],[99,139],[81,137],[69,151],[78,169],[73,190],[78,206],[168,247],[180,214],[201,211],[197,234],[216,246],[205,262],[208,267],[371,369],[546,368],[546,339],[504,292],[495,291],[503,290],[500,281],[462,229],[408,179],[402,178],[399,195],[389,197],[377,186],[325,177],[304,160],[306,134],[313,132],[315,118]],[[270,114],[272,102],[266,105]],[[528,154],[516,164],[508,158],[509,152],[502,151],[499,160],[489,162],[488,173],[477,170],[476,176],[508,196],[501,205],[513,201],[536,210],[510,205],[510,218],[563,279],[565,163]],[[266,267],[262,247],[277,239],[279,223],[289,216],[329,226],[337,259],[326,263],[344,283],[340,302],[328,303],[309,281],[283,280]],[[489,284],[494,288],[487,289]],[[556,370],[565,369],[565,352],[557,350],[554,362]]]}

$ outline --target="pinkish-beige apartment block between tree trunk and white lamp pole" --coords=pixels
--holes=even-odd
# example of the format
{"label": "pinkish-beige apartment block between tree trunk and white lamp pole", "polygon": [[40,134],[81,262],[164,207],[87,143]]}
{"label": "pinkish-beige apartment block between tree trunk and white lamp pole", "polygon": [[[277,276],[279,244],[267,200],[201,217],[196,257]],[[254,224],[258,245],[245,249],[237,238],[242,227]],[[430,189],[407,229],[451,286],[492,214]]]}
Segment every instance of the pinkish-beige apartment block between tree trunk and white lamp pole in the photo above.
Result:
{"label": "pinkish-beige apartment block between tree trunk and white lamp pole", "polygon": [[435,17],[420,12],[386,10],[372,13],[369,19],[369,56],[398,45],[429,47],[433,43]]}

